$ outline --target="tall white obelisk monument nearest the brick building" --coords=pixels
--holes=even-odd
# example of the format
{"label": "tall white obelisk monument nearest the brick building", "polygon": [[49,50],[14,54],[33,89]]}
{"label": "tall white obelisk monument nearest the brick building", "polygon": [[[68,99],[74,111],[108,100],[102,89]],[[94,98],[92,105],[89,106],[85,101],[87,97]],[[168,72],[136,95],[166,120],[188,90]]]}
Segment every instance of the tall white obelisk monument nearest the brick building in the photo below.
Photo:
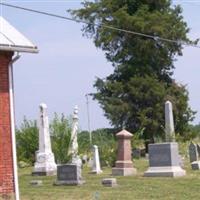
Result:
{"label": "tall white obelisk monument nearest the brick building", "polygon": [[36,151],[36,162],[32,175],[56,175],[56,170],[57,165],[51,150],[47,106],[42,103],[40,104],[39,119],[39,150]]}

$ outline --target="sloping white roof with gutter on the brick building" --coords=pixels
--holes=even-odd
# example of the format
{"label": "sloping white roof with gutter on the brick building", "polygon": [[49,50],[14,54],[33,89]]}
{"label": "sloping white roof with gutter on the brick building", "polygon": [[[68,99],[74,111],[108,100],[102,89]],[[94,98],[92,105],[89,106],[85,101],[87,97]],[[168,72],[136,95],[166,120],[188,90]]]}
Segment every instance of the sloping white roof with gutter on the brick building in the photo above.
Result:
{"label": "sloping white roof with gutter on the brick building", "polygon": [[38,48],[0,16],[0,50],[37,53]]}

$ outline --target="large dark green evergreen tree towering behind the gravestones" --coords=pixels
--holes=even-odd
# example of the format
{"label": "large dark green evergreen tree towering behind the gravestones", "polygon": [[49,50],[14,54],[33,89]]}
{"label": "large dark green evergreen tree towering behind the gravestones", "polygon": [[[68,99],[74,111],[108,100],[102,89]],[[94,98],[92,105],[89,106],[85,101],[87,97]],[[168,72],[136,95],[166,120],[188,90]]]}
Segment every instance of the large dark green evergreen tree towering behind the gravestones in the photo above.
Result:
{"label": "large dark green evergreen tree towering behind the gravestones", "polygon": [[153,140],[164,132],[164,102],[171,100],[176,132],[184,134],[193,112],[185,87],[171,77],[183,43],[192,43],[181,7],[173,7],[170,0],[96,0],[85,1],[83,8],[71,13],[88,22],[84,34],[94,39],[114,66],[113,74],[97,79],[94,94],[111,123],[132,132],[145,128],[144,137]]}

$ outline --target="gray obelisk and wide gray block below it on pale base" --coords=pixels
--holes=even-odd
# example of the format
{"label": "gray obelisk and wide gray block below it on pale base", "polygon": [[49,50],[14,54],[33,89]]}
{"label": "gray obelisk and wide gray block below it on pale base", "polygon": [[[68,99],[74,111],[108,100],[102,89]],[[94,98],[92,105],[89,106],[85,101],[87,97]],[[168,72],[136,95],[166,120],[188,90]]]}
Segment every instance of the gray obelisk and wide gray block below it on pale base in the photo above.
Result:
{"label": "gray obelisk and wide gray block below it on pale base", "polygon": [[184,176],[185,170],[180,167],[178,144],[175,140],[172,104],[165,103],[165,135],[166,143],[149,145],[149,168],[144,173],[148,177]]}

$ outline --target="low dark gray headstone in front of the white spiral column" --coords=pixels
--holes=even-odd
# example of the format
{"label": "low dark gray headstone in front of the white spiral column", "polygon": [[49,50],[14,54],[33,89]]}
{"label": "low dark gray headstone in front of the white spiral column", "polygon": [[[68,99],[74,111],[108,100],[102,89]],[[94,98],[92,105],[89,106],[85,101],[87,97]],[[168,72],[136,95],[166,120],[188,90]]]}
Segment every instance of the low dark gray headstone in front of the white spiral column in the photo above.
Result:
{"label": "low dark gray headstone in front of the white spiral column", "polygon": [[65,164],[57,166],[57,181],[55,185],[81,185],[85,181],[81,177],[81,166]]}

